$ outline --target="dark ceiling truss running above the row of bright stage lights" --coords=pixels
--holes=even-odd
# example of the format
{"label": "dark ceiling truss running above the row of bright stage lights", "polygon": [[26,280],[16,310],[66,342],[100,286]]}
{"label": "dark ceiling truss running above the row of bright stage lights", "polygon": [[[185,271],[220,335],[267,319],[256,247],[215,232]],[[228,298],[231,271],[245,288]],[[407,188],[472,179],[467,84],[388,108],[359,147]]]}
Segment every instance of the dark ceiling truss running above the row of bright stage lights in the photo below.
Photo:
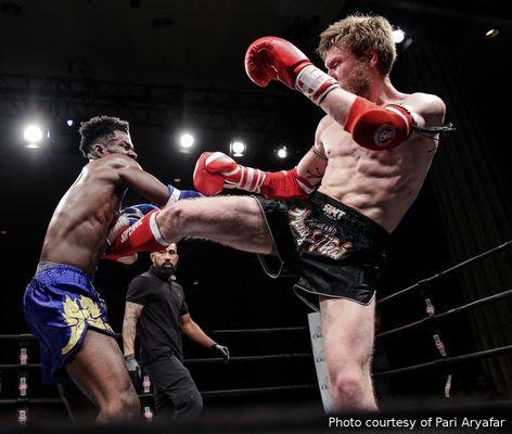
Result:
{"label": "dark ceiling truss running above the row of bright stage lights", "polygon": [[132,125],[174,129],[190,123],[204,129],[268,132],[285,95],[215,88],[102,81],[90,78],[0,74],[0,116],[39,115],[87,119],[116,115]]}

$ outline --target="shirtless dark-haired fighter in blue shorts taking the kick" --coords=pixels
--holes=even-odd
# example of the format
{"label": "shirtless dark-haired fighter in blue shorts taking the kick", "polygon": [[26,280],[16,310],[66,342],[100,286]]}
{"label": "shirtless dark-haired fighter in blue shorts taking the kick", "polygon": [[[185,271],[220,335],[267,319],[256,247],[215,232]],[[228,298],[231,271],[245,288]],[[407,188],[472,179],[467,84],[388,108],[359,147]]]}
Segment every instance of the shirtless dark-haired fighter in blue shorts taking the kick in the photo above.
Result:
{"label": "shirtless dark-haired fighter in blue shorts taking the kick", "polygon": [[[106,116],[81,124],[80,150],[89,164],[53,214],[36,276],[24,296],[25,317],[40,344],[43,381],[59,381],[65,367],[98,407],[100,422],[140,414],[139,398],[108,326],[105,305],[91,283],[107,237],[115,239],[126,229],[114,225],[120,203],[127,188],[161,205],[169,196],[172,201],[191,193],[181,192],[180,197],[177,189],[141,169],[128,128],[127,122]],[[144,206],[131,209],[131,216],[155,208]],[[154,248],[162,250],[163,244],[155,240]]]}

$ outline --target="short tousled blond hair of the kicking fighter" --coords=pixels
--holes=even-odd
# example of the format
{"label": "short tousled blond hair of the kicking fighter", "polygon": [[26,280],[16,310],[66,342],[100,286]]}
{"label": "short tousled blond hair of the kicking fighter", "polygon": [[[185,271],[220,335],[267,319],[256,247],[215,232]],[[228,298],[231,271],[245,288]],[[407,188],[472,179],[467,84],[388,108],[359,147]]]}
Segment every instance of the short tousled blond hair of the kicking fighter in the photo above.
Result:
{"label": "short tousled blond hair of the kicking fighter", "polygon": [[323,60],[334,46],[350,50],[356,58],[374,50],[379,56],[377,69],[383,76],[389,74],[396,60],[393,28],[384,16],[355,14],[331,24],[320,34],[318,52]]}

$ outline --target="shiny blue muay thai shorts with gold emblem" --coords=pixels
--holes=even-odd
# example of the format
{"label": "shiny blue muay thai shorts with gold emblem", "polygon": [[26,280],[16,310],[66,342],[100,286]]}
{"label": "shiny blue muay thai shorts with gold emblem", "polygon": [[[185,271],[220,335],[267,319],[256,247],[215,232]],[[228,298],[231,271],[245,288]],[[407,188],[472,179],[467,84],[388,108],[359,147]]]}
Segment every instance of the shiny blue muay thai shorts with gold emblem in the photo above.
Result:
{"label": "shiny blue muay thai shorts with gold emblem", "polygon": [[115,336],[90,277],[71,265],[40,263],[25,290],[23,307],[39,341],[47,384],[62,378],[64,363],[80,349],[88,328]]}

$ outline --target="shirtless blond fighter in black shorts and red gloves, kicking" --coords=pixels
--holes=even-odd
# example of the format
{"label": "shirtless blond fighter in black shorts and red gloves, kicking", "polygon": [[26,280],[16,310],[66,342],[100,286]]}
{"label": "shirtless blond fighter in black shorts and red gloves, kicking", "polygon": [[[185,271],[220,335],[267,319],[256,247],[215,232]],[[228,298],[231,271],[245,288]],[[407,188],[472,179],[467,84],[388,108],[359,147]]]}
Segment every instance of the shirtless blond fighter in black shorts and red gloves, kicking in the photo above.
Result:
{"label": "shirtless blond fighter in black shorts and red gloves, kicking", "polygon": [[[169,243],[207,238],[277,255],[279,271],[298,273],[295,288],[319,296],[335,405],[374,410],[370,365],[377,275],[388,235],[425,179],[445,104],[392,85],[396,51],[392,26],[381,16],[354,15],[332,24],[321,34],[319,52],[328,74],[276,37],[253,42],[245,58],[254,82],[282,81],[327,113],[298,165],[264,173],[221,153],[205,153],[194,173],[197,190],[216,194],[239,188],[265,199],[183,201],[165,207],[155,220]],[[283,201],[291,197],[303,200]],[[145,220],[140,228],[148,226]],[[148,233],[136,230],[116,248],[143,247],[153,242]]]}

